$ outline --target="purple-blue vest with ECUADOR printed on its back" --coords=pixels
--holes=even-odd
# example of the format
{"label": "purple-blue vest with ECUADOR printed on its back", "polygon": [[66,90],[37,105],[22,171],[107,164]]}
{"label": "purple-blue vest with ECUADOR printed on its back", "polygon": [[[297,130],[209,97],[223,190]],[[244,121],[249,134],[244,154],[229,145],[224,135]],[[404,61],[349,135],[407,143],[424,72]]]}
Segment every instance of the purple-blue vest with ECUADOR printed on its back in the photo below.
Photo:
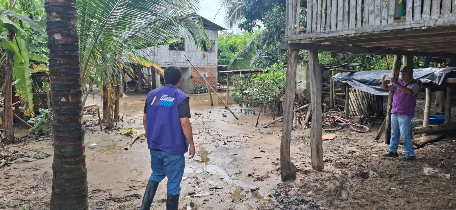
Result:
{"label": "purple-blue vest with ECUADOR printed on its back", "polygon": [[174,85],[154,89],[147,95],[147,145],[169,154],[181,155],[188,151],[179,118],[178,107],[188,96]]}

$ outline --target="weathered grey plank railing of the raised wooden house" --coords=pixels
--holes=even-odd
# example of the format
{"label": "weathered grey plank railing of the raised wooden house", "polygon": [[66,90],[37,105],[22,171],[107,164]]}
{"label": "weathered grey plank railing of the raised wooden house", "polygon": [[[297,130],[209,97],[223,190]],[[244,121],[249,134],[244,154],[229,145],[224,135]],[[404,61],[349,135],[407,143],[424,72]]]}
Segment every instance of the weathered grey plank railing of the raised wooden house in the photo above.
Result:
{"label": "weathered grey plank railing of the raised wooden house", "polygon": [[307,33],[456,24],[455,0],[407,0],[406,3],[401,5],[405,10],[402,16],[398,14],[399,0],[308,0]]}

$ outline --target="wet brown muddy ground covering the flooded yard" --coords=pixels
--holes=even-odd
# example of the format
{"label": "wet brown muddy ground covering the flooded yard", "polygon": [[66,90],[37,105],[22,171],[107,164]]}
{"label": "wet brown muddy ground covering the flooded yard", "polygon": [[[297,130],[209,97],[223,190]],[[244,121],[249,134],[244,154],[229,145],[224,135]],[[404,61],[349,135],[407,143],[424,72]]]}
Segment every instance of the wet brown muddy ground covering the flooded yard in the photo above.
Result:
{"label": "wet brown muddy ground covering the flooded yard", "polygon": [[[124,122],[118,123],[119,128],[143,130],[145,94],[131,92],[122,98]],[[284,183],[279,170],[281,123],[254,128],[253,114],[244,115],[233,107],[236,120],[220,102],[210,107],[207,94],[191,97],[197,155],[186,160],[181,209],[456,209],[455,138],[416,150],[417,161],[402,162],[381,157],[388,146],[383,139],[373,140],[377,128],[371,133],[351,133],[346,128],[323,142],[324,171],[304,170],[296,180]],[[97,102],[95,96],[87,103]],[[261,116],[259,127],[270,119]],[[420,123],[419,118],[414,120]],[[123,147],[130,137],[100,131],[96,121],[85,121],[85,126],[89,209],[138,210],[151,173],[147,143],[135,143],[126,151]],[[311,168],[309,136],[310,130],[301,128],[292,134],[291,161],[301,168]],[[93,143],[97,145],[89,146]],[[20,145],[52,154],[48,138],[7,147],[15,150]],[[49,209],[51,166],[52,156],[1,168],[0,209]],[[425,175],[424,167],[438,168],[451,178]],[[254,186],[258,190],[251,192]],[[152,209],[165,209],[165,201],[166,179]]]}

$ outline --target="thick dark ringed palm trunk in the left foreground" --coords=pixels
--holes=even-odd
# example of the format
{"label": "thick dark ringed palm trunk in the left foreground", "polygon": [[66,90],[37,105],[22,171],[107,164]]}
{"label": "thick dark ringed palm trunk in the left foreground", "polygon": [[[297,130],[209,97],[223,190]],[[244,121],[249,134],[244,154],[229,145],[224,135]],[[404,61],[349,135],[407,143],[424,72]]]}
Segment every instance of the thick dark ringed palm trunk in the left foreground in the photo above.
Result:
{"label": "thick dark ringed palm trunk in the left foreground", "polygon": [[51,210],[87,210],[81,69],[76,0],[46,0],[52,92]]}

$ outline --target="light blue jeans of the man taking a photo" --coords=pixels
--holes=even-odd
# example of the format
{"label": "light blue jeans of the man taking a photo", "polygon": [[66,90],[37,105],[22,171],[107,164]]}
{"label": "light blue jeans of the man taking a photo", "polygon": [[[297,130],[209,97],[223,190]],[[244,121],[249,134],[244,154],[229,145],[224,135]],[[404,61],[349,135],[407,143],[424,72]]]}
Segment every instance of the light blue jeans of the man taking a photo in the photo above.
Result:
{"label": "light blue jeans of the man taking a photo", "polygon": [[402,136],[402,139],[404,139],[405,154],[415,156],[412,136],[410,135],[411,126],[412,116],[391,114],[391,139],[389,141],[389,151],[397,153],[400,135]]}

